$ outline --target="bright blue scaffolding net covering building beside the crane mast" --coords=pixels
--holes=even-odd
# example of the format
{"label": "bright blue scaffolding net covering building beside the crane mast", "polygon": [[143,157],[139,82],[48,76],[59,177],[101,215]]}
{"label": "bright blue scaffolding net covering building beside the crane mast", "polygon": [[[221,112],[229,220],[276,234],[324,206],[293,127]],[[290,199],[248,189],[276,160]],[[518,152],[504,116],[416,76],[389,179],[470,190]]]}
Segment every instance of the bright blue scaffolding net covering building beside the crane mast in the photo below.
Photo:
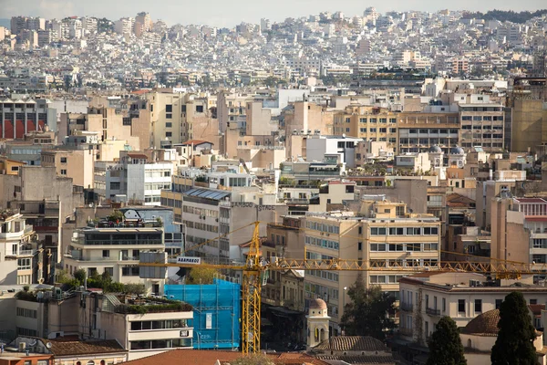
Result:
{"label": "bright blue scaffolding net covering building beside the crane mast", "polygon": [[239,348],[241,289],[241,285],[221,279],[214,279],[209,285],[165,286],[168,297],[194,308],[194,349]]}

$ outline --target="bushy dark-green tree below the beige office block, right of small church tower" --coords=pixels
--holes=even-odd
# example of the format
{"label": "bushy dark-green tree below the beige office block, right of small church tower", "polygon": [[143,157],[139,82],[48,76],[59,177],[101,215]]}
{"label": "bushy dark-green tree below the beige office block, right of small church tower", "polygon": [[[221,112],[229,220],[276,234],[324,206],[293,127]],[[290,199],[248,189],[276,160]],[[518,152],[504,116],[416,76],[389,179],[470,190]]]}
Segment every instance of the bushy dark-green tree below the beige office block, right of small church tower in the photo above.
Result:
{"label": "bushy dark-green tree below the beige office block, right of small church tower", "polygon": [[386,331],[395,328],[393,313],[395,297],[383,292],[381,287],[365,287],[363,276],[358,274],[354,285],[347,289],[351,302],[346,304],[342,327],[348,336],[372,336],[384,340]]}

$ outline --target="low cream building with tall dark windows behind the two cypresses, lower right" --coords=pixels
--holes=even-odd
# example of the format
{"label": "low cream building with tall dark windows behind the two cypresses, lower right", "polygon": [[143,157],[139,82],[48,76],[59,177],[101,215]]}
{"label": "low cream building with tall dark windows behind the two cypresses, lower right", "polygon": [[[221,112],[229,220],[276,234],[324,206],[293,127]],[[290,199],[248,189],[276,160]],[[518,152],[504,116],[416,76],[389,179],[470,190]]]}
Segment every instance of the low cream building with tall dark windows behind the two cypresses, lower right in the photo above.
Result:
{"label": "low cream building with tall dark windows behind the two cypresses, lower right", "polygon": [[545,303],[545,287],[533,285],[532,276],[514,280],[491,280],[478,273],[424,272],[399,280],[401,309],[399,334],[408,342],[427,346],[439,319],[449,316],[459,328],[492,309],[499,309],[513,291],[529,304]]}

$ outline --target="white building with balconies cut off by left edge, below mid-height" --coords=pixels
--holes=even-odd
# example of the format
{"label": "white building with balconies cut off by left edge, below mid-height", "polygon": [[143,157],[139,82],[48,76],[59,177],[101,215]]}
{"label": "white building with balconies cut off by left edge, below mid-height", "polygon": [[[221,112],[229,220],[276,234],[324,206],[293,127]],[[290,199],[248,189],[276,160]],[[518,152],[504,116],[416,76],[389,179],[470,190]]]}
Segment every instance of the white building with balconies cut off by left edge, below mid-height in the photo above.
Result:
{"label": "white building with balconies cut off by left edge, below mid-height", "polygon": [[33,226],[15,211],[0,212],[0,281],[5,285],[42,282],[42,262]]}

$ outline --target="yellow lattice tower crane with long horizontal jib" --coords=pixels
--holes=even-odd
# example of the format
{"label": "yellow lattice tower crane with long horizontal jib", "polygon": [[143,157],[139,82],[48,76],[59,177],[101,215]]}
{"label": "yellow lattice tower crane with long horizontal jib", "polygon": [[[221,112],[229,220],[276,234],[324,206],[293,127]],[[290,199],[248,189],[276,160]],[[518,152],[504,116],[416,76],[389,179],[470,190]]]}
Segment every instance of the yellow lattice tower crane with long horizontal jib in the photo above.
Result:
{"label": "yellow lattice tower crane with long horizontal jib", "polygon": [[[335,271],[392,271],[407,274],[416,274],[424,271],[446,271],[446,272],[471,272],[471,273],[490,273],[498,278],[520,278],[521,275],[533,275],[547,272],[547,266],[544,267],[524,264],[516,261],[507,261],[483,257],[488,262],[471,261],[442,261],[431,266],[404,266],[401,264],[386,266],[385,263],[367,260],[310,260],[310,259],[290,259],[280,257],[275,262],[267,263],[262,260],[260,254],[259,224],[254,222],[253,240],[249,247],[249,253],[243,265],[218,265],[201,263],[200,267],[211,267],[215,269],[230,269],[243,272],[242,281],[242,339],[243,354],[255,353],[260,351],[260,311],[261,311],[261,289],[263,285],[263,276],[267,270],[335,270]],[[252,225],[252,224],[249,224]],[[246,226],[249,226],[246,225]],[[243,229],[243,226],[239,229]],[[235,232],[235,231],[233,231]],[[224,234],[222,236],[229,235]],[[216,240],[208,240],[200,245]],[[191,249],[198,245],[191,247]],[[451,253],[455,254],[455,253]],[[456,254],[466,255],[466,254]],[[470,255],[466,255],[470,256]],[[478,258],[477,256],[473,256]],[[196,267],[190,263],[139,263],[139,266],[159,266],[159,267]]]}

